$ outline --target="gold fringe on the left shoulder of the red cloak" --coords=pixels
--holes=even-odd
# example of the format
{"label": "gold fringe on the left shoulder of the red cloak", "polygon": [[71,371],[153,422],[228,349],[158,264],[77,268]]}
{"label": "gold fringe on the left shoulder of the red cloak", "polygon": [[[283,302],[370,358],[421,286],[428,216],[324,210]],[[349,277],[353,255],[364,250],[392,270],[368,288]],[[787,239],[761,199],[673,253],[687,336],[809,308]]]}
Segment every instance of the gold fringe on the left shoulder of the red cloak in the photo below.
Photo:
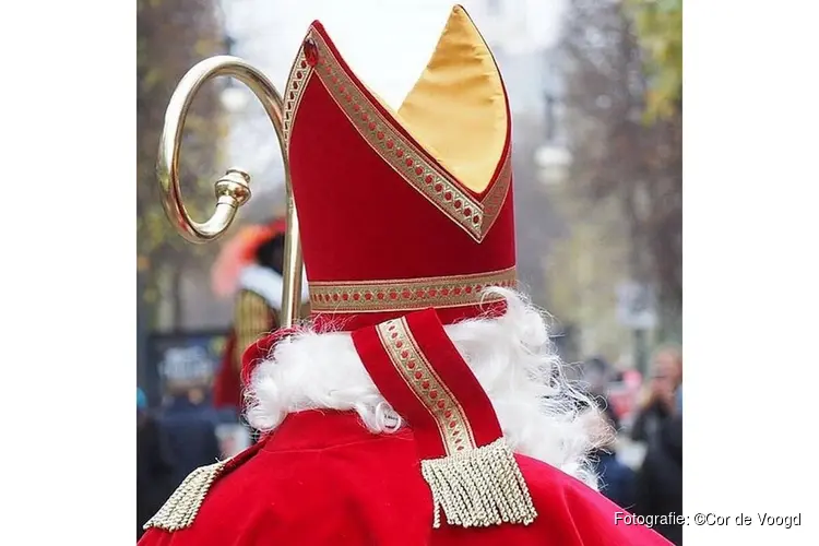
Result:
{"label": "gold fringe on the left shoulder of the red cloak", "polygon": [[227,461],[221,461],[191,472],[143,529],[157,527],[174,532],[191,526],[207,490],[222,474],[226,463]]}

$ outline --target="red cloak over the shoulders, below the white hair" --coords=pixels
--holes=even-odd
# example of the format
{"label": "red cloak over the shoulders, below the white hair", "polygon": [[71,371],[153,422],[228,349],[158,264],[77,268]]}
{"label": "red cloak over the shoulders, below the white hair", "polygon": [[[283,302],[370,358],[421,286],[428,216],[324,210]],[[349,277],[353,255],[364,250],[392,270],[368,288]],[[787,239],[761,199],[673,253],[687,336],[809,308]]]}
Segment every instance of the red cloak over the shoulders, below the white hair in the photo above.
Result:
{"label": "red cloak over the shoulders, below the white hair", "polygon": [[660,546],[643,526],[615,524],[622,511],[582,483],[517,456],[538,518],[432,529],[432,499],[413,434],[372,435],[357,415],[302,412],[239,455],[212,486],[192,526],[152,529],[140,546],[532,545]]}

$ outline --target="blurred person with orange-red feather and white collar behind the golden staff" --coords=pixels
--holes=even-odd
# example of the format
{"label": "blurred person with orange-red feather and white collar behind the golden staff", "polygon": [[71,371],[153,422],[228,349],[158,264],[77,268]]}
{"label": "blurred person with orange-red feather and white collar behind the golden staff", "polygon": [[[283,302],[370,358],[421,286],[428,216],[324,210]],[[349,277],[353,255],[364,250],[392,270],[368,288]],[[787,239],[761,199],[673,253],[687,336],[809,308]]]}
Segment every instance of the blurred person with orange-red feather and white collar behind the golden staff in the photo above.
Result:
{"label": "blurred person with orange-red feather and white collar behind the golden staff", "polygon": [[[284,219],[247,226],[225,247],[212,271],[213,292],[236,298],[234,325],[213,388],[213,403],[238,416],[242,411],[241,355],[260,337],[275,331],[282,310]],[[302,301],[307,281],[301,282]],[[301,316],[306,316],[302,309]]]}

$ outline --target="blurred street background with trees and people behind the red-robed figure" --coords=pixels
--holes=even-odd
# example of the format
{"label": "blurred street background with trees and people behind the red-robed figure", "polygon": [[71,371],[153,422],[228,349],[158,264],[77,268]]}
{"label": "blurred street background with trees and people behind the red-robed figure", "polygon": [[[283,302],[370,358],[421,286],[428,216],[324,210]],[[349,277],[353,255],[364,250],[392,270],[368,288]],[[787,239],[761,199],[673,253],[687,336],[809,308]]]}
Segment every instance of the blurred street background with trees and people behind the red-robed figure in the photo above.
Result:
{"label": "blurred street background with trees and people behind the red-robed figure", "polygon": [[[462,3],[511,97],[520,281],[551,314],[567,373],[618,430],[596,455],[604,492],[633,511],[679,512],[681,0]],[[210,403],[234,318],[234,298],[213,288],[224,245],[185,242],[155,181],[176,84],[195,62],[230,54],[281,87],[309,23],[321,19],[353,69],[397,105],[450,9],[448,0],[138,0],[138,407],[147,517],[192,465],[250,442],[235,412]],[[221,79],[192,110],[181,175],[193,216],[210,213],[213,183],[234,165],[252,176],[239,223],[283,214],[278,144],[256,98]],[[169,477],[157,485],[162,468]],[[678,531],[661,530],[681,544]]]}

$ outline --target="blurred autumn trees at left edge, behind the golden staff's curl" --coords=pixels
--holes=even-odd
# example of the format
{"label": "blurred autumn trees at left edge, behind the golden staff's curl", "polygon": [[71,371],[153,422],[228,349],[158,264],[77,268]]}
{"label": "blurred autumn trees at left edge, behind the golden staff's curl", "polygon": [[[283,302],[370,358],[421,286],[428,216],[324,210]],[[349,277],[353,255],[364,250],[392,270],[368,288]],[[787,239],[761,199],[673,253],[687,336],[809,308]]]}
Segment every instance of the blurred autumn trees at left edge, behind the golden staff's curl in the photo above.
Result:
{"label": "blurred autumn trees at left edge, behind the golden staff's curl", "polygon": [[[169,224],[156,183],[156,152],[165,109],[182,75],[225,48],[217,0],[136,2],[136,240],[141,309],[149,328],[170,329],[180,319],[186,268],[203,265],[212,249],[186,242]],[[218,90],[199,92],[187,122],[180,176],[186,203],[198,219],[213,206],[218,142],[226,132]],[[167,312],[163,305],[170,302]]]}

